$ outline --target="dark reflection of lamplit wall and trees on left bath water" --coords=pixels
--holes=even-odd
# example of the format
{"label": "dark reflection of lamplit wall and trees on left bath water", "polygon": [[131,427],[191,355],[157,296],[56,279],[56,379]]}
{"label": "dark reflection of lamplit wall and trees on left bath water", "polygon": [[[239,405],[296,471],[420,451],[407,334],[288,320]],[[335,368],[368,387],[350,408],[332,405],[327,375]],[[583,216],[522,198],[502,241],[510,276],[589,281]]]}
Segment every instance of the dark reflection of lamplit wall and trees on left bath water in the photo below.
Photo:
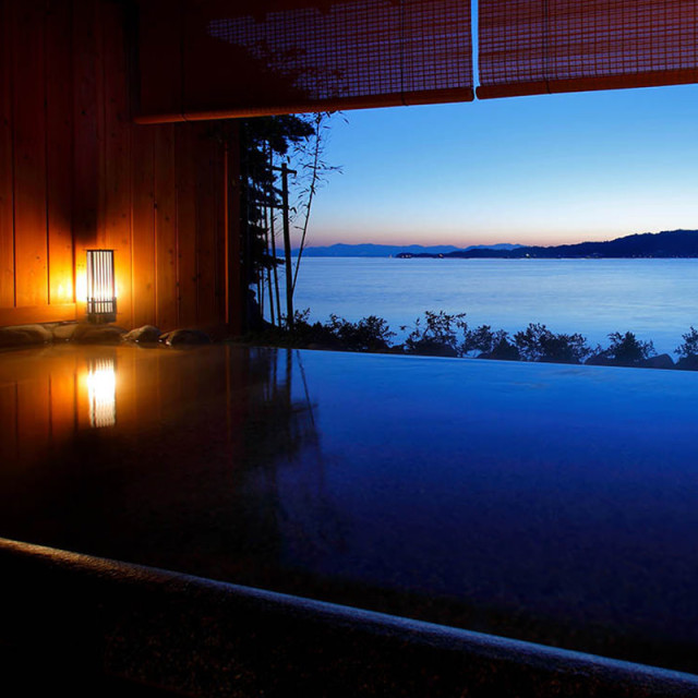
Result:
{"label": "dark reflection of lamplit wall and trees on left bath water", "polygon": [[298,592],[332,520],[314,410],[285,350],[7,352],[0,535]]}

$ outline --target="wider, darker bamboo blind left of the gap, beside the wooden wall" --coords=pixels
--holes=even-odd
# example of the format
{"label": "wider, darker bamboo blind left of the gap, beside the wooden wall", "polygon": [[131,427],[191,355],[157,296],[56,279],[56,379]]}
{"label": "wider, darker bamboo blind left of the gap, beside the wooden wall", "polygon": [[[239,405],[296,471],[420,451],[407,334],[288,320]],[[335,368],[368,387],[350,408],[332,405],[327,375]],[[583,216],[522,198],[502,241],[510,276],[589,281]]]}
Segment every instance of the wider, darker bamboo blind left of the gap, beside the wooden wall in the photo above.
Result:
{"label": "wider, darker bamboo blind left of the gap, beside the wooden wall", "polygon": [[[142,4],[142,117],[473,98],[469,0],[188,0],[180,7],[174,19],[163,3]],[[166,37],[171,60],[152,37]]]}

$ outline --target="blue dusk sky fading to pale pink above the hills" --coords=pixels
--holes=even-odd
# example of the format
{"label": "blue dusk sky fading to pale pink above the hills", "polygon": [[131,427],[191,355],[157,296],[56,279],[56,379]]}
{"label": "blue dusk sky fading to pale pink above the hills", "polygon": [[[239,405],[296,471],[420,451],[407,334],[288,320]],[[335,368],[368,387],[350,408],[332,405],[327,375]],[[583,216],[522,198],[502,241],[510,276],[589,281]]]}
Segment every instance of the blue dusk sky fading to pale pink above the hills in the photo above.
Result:
{"label": "blue dusk sky fading to pale pink above the hills", "polygon": [[334,117],[309,244],[558,244],[698,228],[698,85]]}

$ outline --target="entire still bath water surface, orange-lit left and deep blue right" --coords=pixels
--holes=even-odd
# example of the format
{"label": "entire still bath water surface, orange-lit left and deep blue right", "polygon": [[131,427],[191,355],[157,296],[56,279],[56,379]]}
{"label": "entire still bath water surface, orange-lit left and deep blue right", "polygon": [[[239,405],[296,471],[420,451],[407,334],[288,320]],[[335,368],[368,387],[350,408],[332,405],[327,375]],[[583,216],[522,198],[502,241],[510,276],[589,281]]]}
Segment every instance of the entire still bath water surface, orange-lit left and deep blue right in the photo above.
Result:
{"label": "entire still bath water surface, orange-lit left and deep blue right", "polygon": [[0,535],[698,671],[698,373],[0,352]]}

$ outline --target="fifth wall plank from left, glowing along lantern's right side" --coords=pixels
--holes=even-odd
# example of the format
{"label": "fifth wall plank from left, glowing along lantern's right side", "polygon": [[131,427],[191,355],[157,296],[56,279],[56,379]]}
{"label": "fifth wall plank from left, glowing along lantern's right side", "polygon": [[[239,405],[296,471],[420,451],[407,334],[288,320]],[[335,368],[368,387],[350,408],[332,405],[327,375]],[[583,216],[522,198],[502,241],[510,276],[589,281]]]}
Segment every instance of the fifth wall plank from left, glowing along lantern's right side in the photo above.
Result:
{"label": "fifth wall plank from left, glowing along lantern's right side", "polygon": [[115,250],[117,322],[132,326],[131,127],[124,37],[124,8],[103,3],[105,91],[105,246]]}

